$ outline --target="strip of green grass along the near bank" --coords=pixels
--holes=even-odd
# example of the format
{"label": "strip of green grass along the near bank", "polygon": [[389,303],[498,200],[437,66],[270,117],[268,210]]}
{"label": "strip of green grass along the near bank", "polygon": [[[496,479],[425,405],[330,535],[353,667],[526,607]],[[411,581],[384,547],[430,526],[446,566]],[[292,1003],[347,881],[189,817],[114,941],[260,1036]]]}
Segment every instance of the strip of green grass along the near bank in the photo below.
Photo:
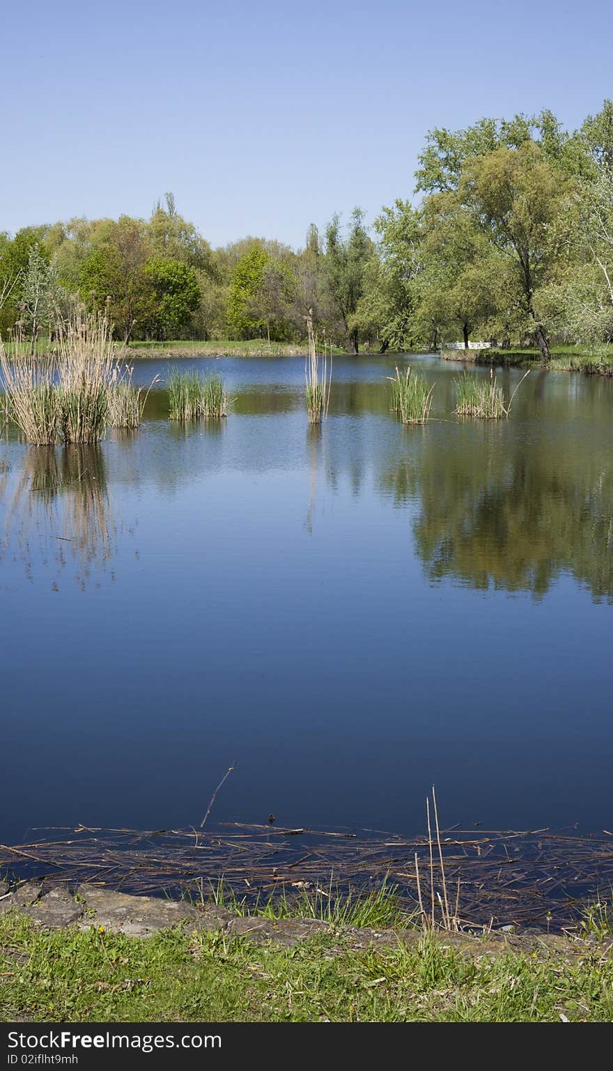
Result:
{"label": "strip of green grass along the near bank", "polygon": [[0,918],[0,1015],[47,1022],[610,1022],[604,947],[466,955],[425,935],[352,951],[331,931],[293,949],[224,935],[142,939]]}

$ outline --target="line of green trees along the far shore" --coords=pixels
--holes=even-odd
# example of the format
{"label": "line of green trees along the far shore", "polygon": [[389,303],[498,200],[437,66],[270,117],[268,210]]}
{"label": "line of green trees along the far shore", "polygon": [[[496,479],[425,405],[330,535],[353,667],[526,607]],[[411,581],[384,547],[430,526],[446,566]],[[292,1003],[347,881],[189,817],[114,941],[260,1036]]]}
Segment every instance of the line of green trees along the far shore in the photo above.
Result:
{"label": "line of green trees along the far shore", "polygon": [[429,132],[415,196],[355,208],[304,247],[212,248],[172,194],[148,220],[0,233],[0,331],[45,335],[76,302],[124,341],[320,340],[350,352],[463,340],[613,340],[613,102],[573,132],[543,110]]}

